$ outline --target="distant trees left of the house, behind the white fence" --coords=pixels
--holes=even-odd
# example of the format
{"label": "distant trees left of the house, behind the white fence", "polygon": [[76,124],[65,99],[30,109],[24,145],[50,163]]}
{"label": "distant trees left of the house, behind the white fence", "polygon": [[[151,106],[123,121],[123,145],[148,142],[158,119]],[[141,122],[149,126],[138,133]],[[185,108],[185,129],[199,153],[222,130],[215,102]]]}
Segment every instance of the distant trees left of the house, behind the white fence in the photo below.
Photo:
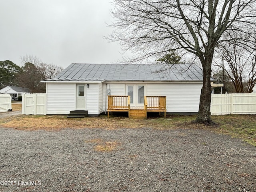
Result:
{"label": "distant trees left of the house, behind the white fence", "polygon": [[22,56],[22,66],[10,60],[0,61],[0,89],[5,86],[20,86],[32,93],[45,93],[46,85],[41,80],[54,78],[62,67],[42,62],[36,56]]}

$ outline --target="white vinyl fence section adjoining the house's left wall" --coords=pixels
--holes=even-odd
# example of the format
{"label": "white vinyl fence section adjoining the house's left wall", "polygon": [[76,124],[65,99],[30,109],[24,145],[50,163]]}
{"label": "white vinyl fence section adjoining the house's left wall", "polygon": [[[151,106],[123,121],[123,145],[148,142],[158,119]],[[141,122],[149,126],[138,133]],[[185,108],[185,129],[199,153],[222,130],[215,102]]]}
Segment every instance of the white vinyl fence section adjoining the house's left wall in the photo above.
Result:
{"label": "white vinyl fence section adjoining the house's left wall", "polygon": [[46,94],[34,93],[22,95],[22,114],[46,115]]}

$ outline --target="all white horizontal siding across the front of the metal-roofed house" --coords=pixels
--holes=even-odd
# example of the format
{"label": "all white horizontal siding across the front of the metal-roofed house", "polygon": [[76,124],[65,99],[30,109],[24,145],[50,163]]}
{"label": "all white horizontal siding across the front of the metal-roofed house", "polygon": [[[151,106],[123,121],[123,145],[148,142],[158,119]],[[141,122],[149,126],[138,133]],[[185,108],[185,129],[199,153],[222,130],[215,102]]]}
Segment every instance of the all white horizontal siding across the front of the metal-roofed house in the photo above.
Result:
{"label": "all white horizontal siding across the front of the metal-roofed house", "polygon": [[[130,82],[128,82],[130,83]],[[111,95],[125,95],[126,83],[90,83],[86,88],[88,114],[100,114]],[[166,96],[167,112],[198,112],[202,83],[144,83],[146,96]],[[107,87],[106,87],[107,86]],[[47,83],[47,114],[68,114],[76,109],[75,83]]]}

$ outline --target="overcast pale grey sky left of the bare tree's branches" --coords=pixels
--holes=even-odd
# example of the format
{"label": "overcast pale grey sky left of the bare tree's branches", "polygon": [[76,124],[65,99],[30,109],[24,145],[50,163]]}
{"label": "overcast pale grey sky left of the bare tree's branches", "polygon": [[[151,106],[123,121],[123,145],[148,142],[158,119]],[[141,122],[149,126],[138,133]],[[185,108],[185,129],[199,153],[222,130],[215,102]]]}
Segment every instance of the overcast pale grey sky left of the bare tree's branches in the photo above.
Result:
{"label": "overcast pale grey sky left of the bare tree's branches", "polygon": [[117,42],[103,36],[112,28],[108,0],[0,0],[0,61],[20,57],[66,68],[71,63],[115,63]]}

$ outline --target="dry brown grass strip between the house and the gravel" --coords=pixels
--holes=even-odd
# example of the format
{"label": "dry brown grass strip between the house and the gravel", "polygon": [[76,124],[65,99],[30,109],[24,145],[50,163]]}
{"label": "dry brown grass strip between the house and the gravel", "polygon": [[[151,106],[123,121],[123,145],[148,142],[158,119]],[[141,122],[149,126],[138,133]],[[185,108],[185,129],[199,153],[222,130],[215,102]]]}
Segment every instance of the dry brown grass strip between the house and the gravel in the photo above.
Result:
{"label": "dry brown grass strip between the house and the gravel", "polygon": [[[18,115],[0,119],[0,127],[19,130],[60,130],[63,128],[155,128],[155,129],[207,129],[221,134],[229,134],[242,138],[256,146],[256,115],[223,115],[212,116],[218,126],[205,126],[192,123],[196,116],[167,116],[164,118],[129,119],[124,117],[106,116],[87,118],[66,118],[66,116],[35,116]],[[186,135],[184,135],[186,136]],[[108,146],[108,147],[106,147]],[[111,150],[110,144],[102,144]]]}

